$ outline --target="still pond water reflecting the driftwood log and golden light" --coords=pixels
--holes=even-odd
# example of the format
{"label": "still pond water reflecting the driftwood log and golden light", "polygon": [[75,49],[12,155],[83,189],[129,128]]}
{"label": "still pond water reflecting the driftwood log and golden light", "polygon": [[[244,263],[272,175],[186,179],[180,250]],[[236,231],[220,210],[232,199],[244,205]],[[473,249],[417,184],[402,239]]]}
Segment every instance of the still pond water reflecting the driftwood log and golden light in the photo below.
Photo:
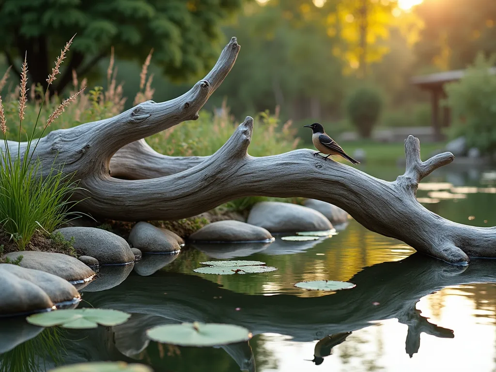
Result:
{"label": "still pond water reflecting the driftwood log and golden light", "polygon": [[[401,172],[363,170],[386,180]],[[453,221],[496,225],[492,169],[444,167],[423,182],[418,197]],[[202,261],[235,257],[278,270],[193,272]],[[324,279],[356,287],[335,293],[294,287]],[[101,278],[81,289],[80,307],[132,313],[122,325],[40,333],[23,319],[1,320],[0,338],[19,345],[0,355],[0,371],[108,360],[139,361],[156,372],[495,371],[495,283],[496,260],[452,266],[353,220],[338,235],[318,241],[189,246],[179,255],[144,255],[134,268],[104,267]],[[173,347],[146,338],[155,325],[183,321],[238,324],[253,338],[217,348]]]}

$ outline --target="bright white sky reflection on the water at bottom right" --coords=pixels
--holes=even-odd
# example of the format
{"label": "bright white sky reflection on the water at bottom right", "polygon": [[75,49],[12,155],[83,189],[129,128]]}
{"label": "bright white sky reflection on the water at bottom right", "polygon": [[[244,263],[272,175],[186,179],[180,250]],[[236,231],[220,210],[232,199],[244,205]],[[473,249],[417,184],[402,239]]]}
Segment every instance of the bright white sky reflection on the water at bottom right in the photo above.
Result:
{"label": "bright white sky reflection on the water at bottom right", "polygon": [[445,288],[422,298],[417,303],[422,316],[454,330],[455,337],[422,333],[419,352],[411,359],[405,352],[407,325],[388,319],[354,331],[324,358],[323,368],[306,361],[313,358],[317,341],[293,342],[287,336],[260,335],[274,359],[271,367],[257,371],[492,372],[496,357],[495,294],[494,284],[472,284]]}

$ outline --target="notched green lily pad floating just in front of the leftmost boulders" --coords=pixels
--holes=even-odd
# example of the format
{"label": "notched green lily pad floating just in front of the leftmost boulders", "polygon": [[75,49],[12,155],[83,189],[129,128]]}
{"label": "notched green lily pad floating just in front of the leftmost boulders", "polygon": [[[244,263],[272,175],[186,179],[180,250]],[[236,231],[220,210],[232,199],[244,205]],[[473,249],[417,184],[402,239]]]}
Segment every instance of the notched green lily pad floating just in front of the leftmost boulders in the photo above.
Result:
{"label": "notched green lily pad floating just in front of the leftmost boulders", "polygon": [[40,327],[60,325],[63,328],[96,328],[98,324],[108,327],[125,323],[131,315],[110,309],[54,310],[28,316],[28,323]]}

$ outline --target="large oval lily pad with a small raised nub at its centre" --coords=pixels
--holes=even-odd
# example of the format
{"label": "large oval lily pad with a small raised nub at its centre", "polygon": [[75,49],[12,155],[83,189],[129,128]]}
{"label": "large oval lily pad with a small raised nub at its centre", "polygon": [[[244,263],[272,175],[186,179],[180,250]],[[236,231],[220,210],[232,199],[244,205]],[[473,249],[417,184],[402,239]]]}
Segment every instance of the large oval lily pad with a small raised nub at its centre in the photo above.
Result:
{"label": "large oval lily pad with a small raised nub at its centre", "polygon": [[146,331],[151,340],[179,346],[219,346],[248,341],[248,329],[233,324],[183,323],[166,324]]}

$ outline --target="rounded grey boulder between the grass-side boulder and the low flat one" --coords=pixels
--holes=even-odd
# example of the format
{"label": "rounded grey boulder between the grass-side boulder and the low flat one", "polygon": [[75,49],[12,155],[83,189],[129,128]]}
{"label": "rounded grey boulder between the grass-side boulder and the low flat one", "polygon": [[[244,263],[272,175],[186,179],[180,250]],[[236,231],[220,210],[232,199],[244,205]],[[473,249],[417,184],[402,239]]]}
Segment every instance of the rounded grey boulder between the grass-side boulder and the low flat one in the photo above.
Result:
{"label": "rounded grey boulder between the grass-side boulder and the low flat one", "polygon": [[143,253],[177,252],[184,244],[184,240],[179,235],[148,222],[138,222],[134,225],[129,233],[128,241]]}

